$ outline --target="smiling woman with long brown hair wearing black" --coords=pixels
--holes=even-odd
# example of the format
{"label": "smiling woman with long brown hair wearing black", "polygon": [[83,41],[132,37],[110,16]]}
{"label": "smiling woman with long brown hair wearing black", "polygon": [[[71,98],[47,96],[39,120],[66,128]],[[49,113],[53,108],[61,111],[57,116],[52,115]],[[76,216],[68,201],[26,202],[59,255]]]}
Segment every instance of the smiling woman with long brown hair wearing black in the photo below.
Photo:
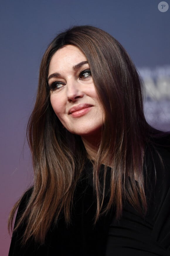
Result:
{"label": "smiling woman with long brown hair wearing black", "polygon": [[14,206],[9,255],[169,255],[170,138],[108,33],[77,26],[45,52],[28,124],[34,185]]}

